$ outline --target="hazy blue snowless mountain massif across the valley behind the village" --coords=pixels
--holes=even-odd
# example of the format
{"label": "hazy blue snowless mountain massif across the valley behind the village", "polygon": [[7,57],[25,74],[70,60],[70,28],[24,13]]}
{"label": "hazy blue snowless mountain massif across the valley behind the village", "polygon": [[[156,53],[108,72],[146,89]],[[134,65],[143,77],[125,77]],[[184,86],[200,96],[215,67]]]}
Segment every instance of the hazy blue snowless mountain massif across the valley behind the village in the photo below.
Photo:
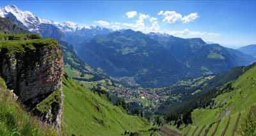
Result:
{"label": "hazy blue snowless mountain massif across the valley behind the village", "polygon": [[111,32],[80,44],[78,55],[113,77],[132,77],[142,86],[172,85],[182,78],[195,78],[237,65],[253,57],[200,38],[183,39],[167,34],[139,31]]}

